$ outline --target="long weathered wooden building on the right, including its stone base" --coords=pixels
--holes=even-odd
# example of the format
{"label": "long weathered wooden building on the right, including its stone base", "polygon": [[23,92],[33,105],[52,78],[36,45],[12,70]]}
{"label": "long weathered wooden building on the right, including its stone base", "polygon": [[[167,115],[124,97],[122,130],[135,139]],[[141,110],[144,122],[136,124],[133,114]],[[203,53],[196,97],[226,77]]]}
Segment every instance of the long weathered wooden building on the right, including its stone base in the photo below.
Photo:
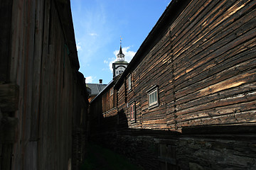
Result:
{"label": "long weathered wooden building on the right, including its stone base", "polygon": [[114,85],[116,112],[97,115],[101,142],[145,169],[256,169],[255,7],[171,1]]}

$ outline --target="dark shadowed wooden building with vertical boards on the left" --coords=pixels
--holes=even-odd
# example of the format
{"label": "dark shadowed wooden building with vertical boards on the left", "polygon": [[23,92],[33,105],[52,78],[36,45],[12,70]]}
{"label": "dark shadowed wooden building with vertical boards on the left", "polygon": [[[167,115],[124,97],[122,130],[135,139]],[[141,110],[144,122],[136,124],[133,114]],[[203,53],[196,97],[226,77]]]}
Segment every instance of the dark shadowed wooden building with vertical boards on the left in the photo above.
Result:
{"label": "dark shadowed wooden building with vertical boards on the left", "polygon": [[78,169],[88,102],[70,1],[0,9],[0,169]]}

